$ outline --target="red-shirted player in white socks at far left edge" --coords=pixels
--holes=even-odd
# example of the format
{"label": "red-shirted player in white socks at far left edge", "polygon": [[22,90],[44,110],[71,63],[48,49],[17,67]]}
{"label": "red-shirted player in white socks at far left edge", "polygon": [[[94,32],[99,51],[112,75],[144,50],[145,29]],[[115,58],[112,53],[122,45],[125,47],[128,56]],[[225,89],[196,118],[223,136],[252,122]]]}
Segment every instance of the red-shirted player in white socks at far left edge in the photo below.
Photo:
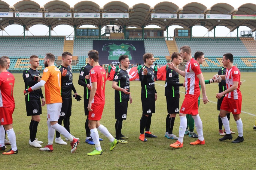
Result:
{"label": "red-shirted player in white socks at far left edge", "polygon": [[[12,127],[12,114],[15,108],[13,97],[14,76],[7,72],[7,61],[0,58],[0,151],[5,151],[5,130],[11,149],[5,155],[17,154],[16,136]],[[5,127],[5,129],[4,129]]]}

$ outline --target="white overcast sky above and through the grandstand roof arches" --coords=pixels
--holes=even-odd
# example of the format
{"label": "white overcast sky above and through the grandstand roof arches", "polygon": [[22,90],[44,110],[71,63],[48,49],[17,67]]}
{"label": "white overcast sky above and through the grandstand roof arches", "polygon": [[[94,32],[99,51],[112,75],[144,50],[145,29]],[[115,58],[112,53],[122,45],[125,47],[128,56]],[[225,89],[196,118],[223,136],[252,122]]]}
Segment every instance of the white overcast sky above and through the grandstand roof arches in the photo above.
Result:
{"label": "white overcast sky above and through the grandstand roof arches", "polygon": [[[9,5],[13,6],[14,4],[16,4],[17,0],[3,0],[6,3],[8,3]],[[37,2],[39,5],[44,5],[47,2],[49,2],[49,0],[33,0],[35,2]],[[64,2],[66,2],[67,4],[69,4],[70,6],[74,6],[75,4],[77,4],[78,2],[82,1],[82,0],[63,0]],[[113,1],[113,0],[112,0]],[[165,1],[165,0],[162,0]],[[139,4],[139,3],[144,3],[144,4],[148,4],[151,7],[154,7],[154,5],[158,4],[159,2],[162,2],[161,0],[152,0],[152,1],[145,1],[145,0],[129,0],[129,1],[123,1],[124,3],[126,3],[127,5],[129,5],[130,7],[132,7],[135,4]],[[107,4],[108,2],[111,2],[111,0],[93,0],[93,2],[99,4],[100,7],[103,7],[105,4]],[[184,5],[191,3],[191,2],[198,2],[201,3],[203,5],[205,5],[207,8],[212,7],[212,5],[217,4],[217,3],[227,3],[230,4],[231,6],[233,6],[235,9],[238,8],[239,6],[241,6],[242,4],[246,4],[246,3],[252,3],[255,4],[255,0],[212,0],[212,1],[206,1],[206,0],[175,0],[175,1],[170,1],[174,4],[177,4],[180,8],[183,7]],[[157,26],[147,26],[146,28],[157,28]],[[173,29],[175,28],[182,28],[178,25],[172,25],[169,27],[168,31],[169,31],[169,36],[173,36]],[[194,37],[197,36],[213,36],[212,32],[208,32],[206,28],[204,28],[203,26],[194,26],[192,31],[192,34]],[[74,28],[72,28],[69,25],[59,25],[56,26],[54,29],[54,31],[52,32],[52,35],[62,35],[62,36],[68,36],[68,35],[74,35]],[[250,28],[245,27],[245,26],[241,26],[239,27],[239,34],[240,31],[249,31]],[[5,32],[6,31],[6,32]],[[3,35],[11,35],[11,36],[20,36],[23,34],[23,28],[21,25],[10,25],[8,27],[5,28],[5,31],[0,31],[0,34]],[[30,32],[29,32],[30,31]],[[45,25],[35,25],[32,26],[29,29],[28,35],[35,35],[35,36],[44,36],[46,34],[48,34],[47,32],[49,31],[48,28]],[[8,34],[7,34],[8,33]],[[166,33],[165,33],[166,35]],[[229,32],[229,29],[224,27],[224,26],[217,26],[216,27],[216,36],[218,37],[230,37],[230,36],[236,36],[236,30],[234,32]]]}

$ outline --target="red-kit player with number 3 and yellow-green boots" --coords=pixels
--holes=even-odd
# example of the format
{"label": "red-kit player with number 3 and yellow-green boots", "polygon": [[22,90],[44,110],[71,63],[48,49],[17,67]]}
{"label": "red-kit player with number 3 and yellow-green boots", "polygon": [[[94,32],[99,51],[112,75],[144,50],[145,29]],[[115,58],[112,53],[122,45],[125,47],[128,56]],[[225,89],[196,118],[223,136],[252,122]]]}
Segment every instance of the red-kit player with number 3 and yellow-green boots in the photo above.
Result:
{"label": "red-kit player with number 3 and yellow-green boots", "polygon": [[102,66],[99,65],[98,51],[91,51],[88,53],[88,63],[93,66],[93,68],[90,70],[91,93],[87,108],[89,110],[89,128],[95,144],[95,150],[87,155],[101,155],[102,149],[99,143],[98,130],[111,142],[111,147],[109,149],[110,151],[114,149],[114,147],[118,144],[118,141],[108,132],[108,129],[99,122],[102,117],[105,104],[106,71],[104,68],[102,68]]}

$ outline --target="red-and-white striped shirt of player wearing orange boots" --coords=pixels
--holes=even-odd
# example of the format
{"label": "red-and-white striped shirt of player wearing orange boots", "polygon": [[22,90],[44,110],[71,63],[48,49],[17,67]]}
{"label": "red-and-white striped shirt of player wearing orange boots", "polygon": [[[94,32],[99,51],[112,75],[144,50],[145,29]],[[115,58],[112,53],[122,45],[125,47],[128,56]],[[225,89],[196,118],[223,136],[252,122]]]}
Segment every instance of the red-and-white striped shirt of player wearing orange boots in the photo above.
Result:
{"label": "red-and-white striped shirt of player wearing orange boots", "polygon": [[199,64],[194,58],[187,62],[185,72],[186,94],[200,95],[199,78],[197,78],[197,75],[201,74],[202,72]]}

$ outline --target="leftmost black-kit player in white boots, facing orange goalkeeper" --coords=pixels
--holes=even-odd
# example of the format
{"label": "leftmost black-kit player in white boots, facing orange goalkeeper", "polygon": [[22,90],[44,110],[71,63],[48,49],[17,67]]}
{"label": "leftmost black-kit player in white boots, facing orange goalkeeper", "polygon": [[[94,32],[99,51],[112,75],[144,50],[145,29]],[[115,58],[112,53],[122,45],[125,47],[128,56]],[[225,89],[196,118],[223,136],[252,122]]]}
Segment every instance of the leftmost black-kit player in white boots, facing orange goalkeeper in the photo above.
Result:
{"label": "leftmost black-kit player in white boots, facing orange goalkeeper", "polygon": [[[23,71],[23,80],[25,82],[25,89],[37,84],[41,78],[40,73],[36,68],[39,67],[39,58],[32,55],[29,58],[30,67]],[[40,101],[42,99],[42,104]],[[44,95],[41,89],[37,89],[29,95],[25,96],[27,116],[31,116],[29,125],[29,145],[33,147],[42,147],[43,142],[38,141],[36,138],[38,123],[40,122],[40,115],[42,114],[41,106],[45,105]]]}

